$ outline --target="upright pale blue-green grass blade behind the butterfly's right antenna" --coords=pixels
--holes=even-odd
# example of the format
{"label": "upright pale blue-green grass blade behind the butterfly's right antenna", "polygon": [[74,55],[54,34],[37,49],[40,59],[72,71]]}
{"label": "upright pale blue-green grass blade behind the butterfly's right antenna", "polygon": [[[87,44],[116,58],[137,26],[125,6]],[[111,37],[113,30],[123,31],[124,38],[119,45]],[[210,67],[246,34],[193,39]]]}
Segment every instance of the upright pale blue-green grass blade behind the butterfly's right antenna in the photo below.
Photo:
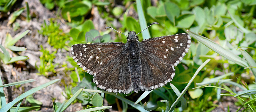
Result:
{"label": "upright pale blue-green grass blade behind the butterfly's right antenna", "polygon": [[[142,31],[145,28],[147,28],[148,25],[147,25],[147,22],[146,22],[146,18],[144,16],[144,12],[142,10],[142,6],[141,6],[140,0],[136,0],[136,6],[137,6],[139,21],[140,21],[140,30]],[[145,31],[143,31],[141,33],[142,33],[142,38],[143,39],[151,38],[148,29],[146,29]]]}

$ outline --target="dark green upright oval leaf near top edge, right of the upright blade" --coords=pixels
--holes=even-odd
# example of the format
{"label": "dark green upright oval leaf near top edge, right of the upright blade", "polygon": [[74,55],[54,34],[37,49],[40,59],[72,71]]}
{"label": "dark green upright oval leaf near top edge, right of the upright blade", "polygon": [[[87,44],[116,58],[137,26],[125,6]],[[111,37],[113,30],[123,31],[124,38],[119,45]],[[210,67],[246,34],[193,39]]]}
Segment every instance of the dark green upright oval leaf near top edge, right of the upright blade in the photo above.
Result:
{"label": "dark green upright oval leaf near top edge, right of the upright blade", "polygon": [[180,8],[175,3],[165,2],[164,10],[168,19],[172,23],[175,23],[175,17],[178,17],[180,15]]}

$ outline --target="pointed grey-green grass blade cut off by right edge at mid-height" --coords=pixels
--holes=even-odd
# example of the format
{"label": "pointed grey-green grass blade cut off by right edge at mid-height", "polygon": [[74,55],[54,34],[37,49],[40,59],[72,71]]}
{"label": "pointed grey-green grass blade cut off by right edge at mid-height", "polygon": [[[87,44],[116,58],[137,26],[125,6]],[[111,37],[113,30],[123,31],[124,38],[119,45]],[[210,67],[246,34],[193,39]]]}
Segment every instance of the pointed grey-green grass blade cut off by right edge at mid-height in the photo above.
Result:
{"label": "pointed grey-green grass blade cut off by right edge at mid-height", "polygon": [[[239,48],[239,50],[241,51],[241,53],[243,54],[244,58],[248,62],[249,66],[256,67],[256,63],[252,59],[252,57],[246,51],[244,51],[244,49]],[[252,73],[253,73],[254,77],[256,77],[256,68],[249,68],[249,69],[252,70]],[[256,79],[255,79],[255,81],[256,81]]]}

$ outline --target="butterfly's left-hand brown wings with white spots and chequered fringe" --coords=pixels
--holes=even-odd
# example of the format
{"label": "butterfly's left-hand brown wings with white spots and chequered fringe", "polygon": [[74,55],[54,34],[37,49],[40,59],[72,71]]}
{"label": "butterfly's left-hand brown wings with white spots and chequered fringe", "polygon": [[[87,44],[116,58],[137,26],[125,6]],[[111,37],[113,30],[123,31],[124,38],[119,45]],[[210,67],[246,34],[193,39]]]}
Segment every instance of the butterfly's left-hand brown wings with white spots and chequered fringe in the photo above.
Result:
{"label": "butterfly's left-hand brown wings with white spots and chequered fringe", "polygon": [[94,76],[100,89],[109,92],[130,93],[128,57],[124,43],[92,43],[71,46],[74,61]]}

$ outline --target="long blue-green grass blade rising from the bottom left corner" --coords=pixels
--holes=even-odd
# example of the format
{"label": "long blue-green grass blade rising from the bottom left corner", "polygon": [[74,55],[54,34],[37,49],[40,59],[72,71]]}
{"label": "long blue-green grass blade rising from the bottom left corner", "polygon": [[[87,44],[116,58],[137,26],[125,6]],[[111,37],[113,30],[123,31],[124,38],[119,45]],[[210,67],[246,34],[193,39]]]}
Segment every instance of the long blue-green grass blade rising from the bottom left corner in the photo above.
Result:
{"label": "long blue-green grass blade rising from the bottom left corner", "polygon": [[28,90],[27,92],[21,94],[20,96],[18,96],[17,98],[15,98],[12,102],[9,102],[8,104],[6,104],[4,107],[2,107],[0,109],[1,112],[7,112],[9,109],[11,109],[12,106],[14,106],[17,102],[19,102],[21,99],[24,99],[26,98],[27,96],[49,86],[49,85],[52,85],[53,83],[55,82],[58,82],[60,79],[55,79],[55,80],[52,80],[50,82],[47,82],[47,83],[44,83],[36,88],[33,88],[33,89],[30,89]]}

